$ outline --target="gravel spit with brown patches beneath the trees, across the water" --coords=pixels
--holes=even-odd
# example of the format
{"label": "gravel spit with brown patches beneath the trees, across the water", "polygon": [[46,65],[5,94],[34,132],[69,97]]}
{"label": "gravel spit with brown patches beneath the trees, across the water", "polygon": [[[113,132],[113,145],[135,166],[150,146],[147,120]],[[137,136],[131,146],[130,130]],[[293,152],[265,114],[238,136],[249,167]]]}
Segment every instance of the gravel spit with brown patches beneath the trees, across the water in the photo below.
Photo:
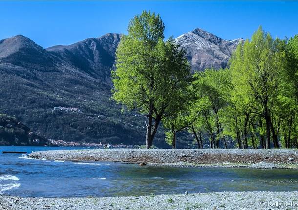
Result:
{"label": "gravel spit with brown patches beneath the trees, across the water", "polygon": [[296,149],[90,149],[49,150],[31,158],[84,161],[117,161],[170,166],[298,168]]}

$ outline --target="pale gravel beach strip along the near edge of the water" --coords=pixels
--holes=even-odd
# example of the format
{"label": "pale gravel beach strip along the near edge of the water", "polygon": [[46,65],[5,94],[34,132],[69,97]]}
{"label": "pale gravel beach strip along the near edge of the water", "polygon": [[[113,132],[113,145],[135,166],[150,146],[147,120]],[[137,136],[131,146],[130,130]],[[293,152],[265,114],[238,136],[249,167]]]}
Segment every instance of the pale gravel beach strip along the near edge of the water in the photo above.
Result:
{"label": "pale gravel beach strip along the near edge of the water", "polygon": [[[287,202],[287,205],[284,202]],[[297,191],[214,192],[102,198],[0,196],[0,210],[294,210],[298,209],[297,205]]]}

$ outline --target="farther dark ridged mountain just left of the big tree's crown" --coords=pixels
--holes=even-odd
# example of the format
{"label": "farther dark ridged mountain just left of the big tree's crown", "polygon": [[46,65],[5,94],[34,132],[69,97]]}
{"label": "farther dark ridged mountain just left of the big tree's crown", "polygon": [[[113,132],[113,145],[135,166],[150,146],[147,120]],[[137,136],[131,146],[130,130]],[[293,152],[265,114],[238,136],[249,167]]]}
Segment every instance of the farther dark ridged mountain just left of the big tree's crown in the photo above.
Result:
{"label": "farther dark ridged mountain just left of the big tree's crown", "polygon": [[106,34],[100,38],[88,38],[78,43],[47,48],[49,53],[72,64],[89,76],[111,84],[110,71],[120,34]]}

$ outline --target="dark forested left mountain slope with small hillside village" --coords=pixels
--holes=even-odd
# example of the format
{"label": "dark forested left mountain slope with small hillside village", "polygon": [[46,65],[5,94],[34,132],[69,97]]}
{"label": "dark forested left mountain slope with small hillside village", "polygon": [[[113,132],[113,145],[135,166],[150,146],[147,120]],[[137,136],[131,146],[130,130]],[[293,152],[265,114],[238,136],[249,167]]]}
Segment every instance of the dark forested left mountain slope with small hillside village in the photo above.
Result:
{"label": "dark forested left mountain slope with small hillside village", "polygon": [[[109,38],[98,39],[102,52],[94,63],[102,67],[94,67],[92,74],[29,38],[2,40],[0,112],[17,115],[47,138],[143,144],[143,116],[121,113],[121,107],[110,100],[111,81],[107,78],[114,61],[107,62],[105,56],[114,54],[115,47],[109,51],[113,49]],[[104,70],[107,78],[101,77]]]}

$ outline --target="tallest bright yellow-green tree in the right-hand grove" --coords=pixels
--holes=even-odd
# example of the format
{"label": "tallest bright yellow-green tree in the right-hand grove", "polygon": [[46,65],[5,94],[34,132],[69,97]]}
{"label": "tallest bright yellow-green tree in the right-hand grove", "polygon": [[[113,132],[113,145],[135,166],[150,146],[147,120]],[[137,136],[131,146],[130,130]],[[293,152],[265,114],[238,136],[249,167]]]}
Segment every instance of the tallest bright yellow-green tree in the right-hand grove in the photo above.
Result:
{"label": "tallest bright yellow-green tree in the right-hand grove", "polygon": [[264,118],[266,148],[270,148],[271,133],[274,147],[279,147],[272,123],[272,110],[278,95],[282,55],[275,40],[262,27],[246,40],[231,59],[232,78],[236,93],[249,101],[251,112]]}

